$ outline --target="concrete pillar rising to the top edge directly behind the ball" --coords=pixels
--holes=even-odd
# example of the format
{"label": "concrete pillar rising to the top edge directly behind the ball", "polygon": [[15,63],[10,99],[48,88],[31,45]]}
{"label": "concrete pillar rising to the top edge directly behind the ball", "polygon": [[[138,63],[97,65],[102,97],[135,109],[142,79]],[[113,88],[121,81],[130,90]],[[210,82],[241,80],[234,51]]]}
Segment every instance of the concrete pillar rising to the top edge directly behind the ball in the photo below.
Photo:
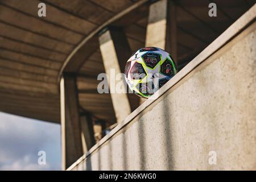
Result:
{"label": "concrete pillar rising to the top edge directly behind the ball", "polygon": [[[176,9],[172,1],[161,0],[150,5],[146,47],[159,47],[177,61]],[[177,62],[176,62],[177,63]]]}

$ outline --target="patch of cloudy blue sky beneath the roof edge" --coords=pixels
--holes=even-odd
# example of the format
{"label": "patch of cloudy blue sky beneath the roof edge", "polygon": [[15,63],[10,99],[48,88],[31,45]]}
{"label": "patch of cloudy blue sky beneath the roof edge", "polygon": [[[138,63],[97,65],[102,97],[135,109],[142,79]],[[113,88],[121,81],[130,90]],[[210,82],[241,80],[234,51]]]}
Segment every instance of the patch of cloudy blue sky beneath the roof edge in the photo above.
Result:
{"label": "patch of cloudy blue sky beneath the roof edge", "polygon": [[59,124],[0,112],[0,170],[61,170],[60,144]]}

